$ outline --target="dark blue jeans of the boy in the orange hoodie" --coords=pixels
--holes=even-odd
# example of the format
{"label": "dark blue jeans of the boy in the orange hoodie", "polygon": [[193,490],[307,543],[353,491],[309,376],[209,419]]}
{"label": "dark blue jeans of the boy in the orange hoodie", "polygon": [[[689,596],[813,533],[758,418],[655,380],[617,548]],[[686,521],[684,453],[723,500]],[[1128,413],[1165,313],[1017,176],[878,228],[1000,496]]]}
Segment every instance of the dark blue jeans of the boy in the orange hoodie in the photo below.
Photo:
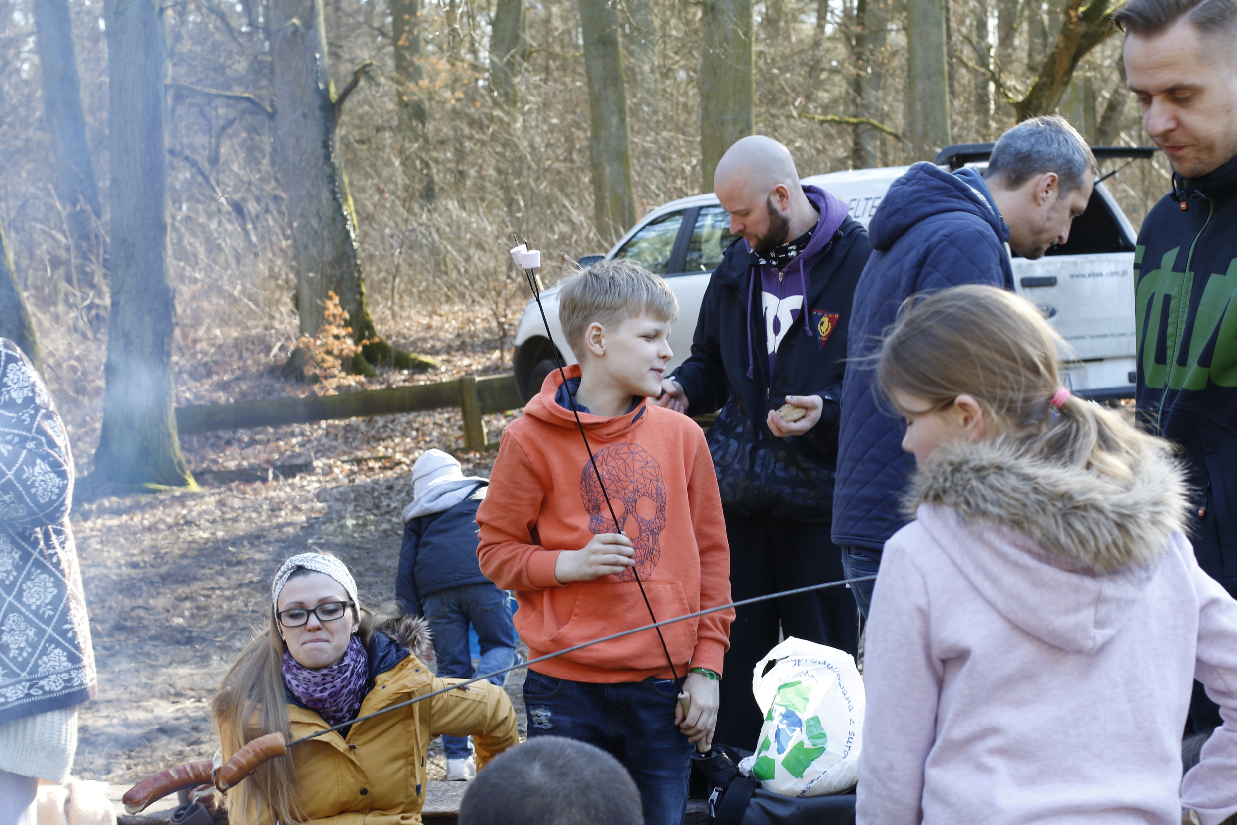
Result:
{"label": "dark blue jeans of the boy in the orange hoodie", "polygon": [[528,738],[565,736],[623,763],[640,788],[644,825],[682,825],[694,746],[674,725],[678,689],[669,679],[594,684],[529,670]]}

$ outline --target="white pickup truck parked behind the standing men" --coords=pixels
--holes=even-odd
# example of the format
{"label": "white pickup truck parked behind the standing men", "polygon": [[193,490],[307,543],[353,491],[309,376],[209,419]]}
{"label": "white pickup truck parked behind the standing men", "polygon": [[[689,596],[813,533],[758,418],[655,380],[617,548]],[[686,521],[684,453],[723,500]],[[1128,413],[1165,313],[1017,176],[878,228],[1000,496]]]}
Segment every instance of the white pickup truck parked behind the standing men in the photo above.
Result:
{"label": "white pickup truck parked behind the standing men", "polygon": [[[962,143],[945,148],[936,163],[949,168],[982,167],[992,143]],[[1094,147],[1100,160],[1150,157],[1152,148]],[[803,178],[850,205],[850,215],[865,226],[872,220],[889,184],[909,167],[833,172]],[[1102,181],[1102,179],[1101,179]],[[1134,228],[1103,183],[1097,183],[1086,212],[1074,220],[1070,239],[1038,261],[1013,257],[1014,288],[1049,317],[1071,351],[1065,369],[1071,388],[1095,400],[1133,397],[1134,355]],[[674,359],[669,369],[691,354],[695,319],[709,276],[734,242],[730,216],[714,194],[694,195],[658,207],[636,224],[605,255],[585,256],[581,265],[626,257],[666,278],[679,299],[679,320],[670,331]],[[558,324],[558,289],[542,293],[546,317],[565,364],[576,359]],[[541,390],[554,369],[554,350],[536,304],[529,302],[516,330],[516,382],[524,398]]]}

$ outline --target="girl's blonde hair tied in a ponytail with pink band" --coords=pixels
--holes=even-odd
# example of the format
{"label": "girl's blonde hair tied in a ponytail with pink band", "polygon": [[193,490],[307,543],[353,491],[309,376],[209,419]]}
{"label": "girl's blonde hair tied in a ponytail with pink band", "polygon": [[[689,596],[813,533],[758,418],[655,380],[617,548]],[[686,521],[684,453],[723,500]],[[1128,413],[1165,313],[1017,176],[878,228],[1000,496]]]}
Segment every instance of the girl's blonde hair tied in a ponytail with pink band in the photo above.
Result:
{"label": "girl's blonde hair tied in a ponytail with pink band", "polygon": [[1166,451],[1166,443],[1077,396],[1054,414],[1059,346],[1060,335],[1028,301],[990,286],[952,287],[902,304],[877,382],[891,400],[898,390],[939,407],[972,396],[995,434],[1019,442],[1028,458],[1131,480],[1141,458]]}

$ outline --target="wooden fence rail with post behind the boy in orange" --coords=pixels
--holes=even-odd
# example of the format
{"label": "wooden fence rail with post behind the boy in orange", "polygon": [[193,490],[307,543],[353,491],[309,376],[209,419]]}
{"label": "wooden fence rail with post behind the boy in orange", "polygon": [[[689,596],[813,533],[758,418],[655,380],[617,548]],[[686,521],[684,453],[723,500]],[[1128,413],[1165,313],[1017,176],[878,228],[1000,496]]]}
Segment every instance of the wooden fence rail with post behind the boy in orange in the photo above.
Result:
{"label": "wooden fence rail with post behind the boy in orange", "polygon": [[176,427],[182,435],[219,429],[306,424],[354,416],[393,416],[458,407],[464,417],[464,449],[497,449],[486,439],[481,416],[523,407],[513,375],[477,378],[464,376],[440,383],[414,383],[390,390],[365,390],[338,396],[240,401],[233,404],[177,407]]}

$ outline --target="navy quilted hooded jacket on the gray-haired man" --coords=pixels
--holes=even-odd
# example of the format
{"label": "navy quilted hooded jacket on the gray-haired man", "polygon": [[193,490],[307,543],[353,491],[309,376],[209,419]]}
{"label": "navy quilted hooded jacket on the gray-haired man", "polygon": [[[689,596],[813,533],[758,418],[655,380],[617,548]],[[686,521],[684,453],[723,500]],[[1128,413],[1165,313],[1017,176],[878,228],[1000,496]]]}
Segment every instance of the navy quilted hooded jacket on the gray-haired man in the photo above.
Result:
{"label": "navy quilted hooded jacket on the gray-haired man", "polygon": [[[913,294],[962,283],[1013,288],[1013,268],[992,195],[975,169],[950,173],[915,163],[893,182],[868,226],[872,257],[855,289],[847,357],[880,346],[882,331]],[[881,550],[903,524],[902,492],[915,460],[905,428],[872,392],[873,371],[852,366],[842,383],[834,543]]]}

